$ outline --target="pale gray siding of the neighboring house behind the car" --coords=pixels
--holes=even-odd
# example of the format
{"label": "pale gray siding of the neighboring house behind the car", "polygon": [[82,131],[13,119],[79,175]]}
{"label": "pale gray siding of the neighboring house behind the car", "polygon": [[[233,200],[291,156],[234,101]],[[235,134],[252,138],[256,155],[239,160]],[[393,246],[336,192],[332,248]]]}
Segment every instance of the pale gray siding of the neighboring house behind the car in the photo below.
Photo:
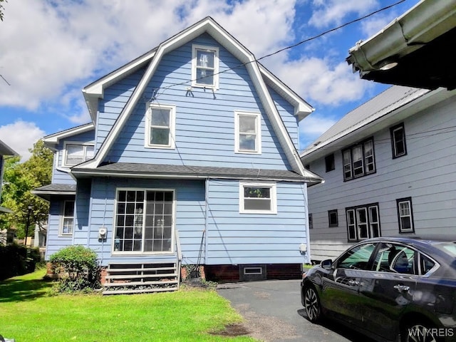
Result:
{"label": "pale gray siding of the neighboring house behind the car", "polygon": [[[373,135],[376,172],[343,181],[341,150],[336,170],[324,157],[311,170],[325,179],[309,187],[312,259],[334,258],[348,242],[346,208],[378,202],[382,236],[398,235],[396,199],[411,197],[416,234],[452,233],[456,221],[456,99],[433,105],[403,121],[407,155],[393,159],[389,128]],[[393,125],[391,125],[393,126]],[[366,136],[369,138],[372,135]],[[328,227],[328,210],[338,210],[338,227]],[[405,233],[403,233],[405,234]],[[405,234],[406,235],[406,234]]]}

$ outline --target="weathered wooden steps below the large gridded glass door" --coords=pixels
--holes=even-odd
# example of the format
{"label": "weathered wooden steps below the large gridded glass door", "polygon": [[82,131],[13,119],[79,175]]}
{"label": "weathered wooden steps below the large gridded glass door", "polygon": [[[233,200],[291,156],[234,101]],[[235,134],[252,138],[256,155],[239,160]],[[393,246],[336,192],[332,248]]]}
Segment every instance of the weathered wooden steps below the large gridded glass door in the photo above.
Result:
{"label": "weathered wooden steps below the large gridded glass door", "polygon": [[109,264],[103,295],[176,291],[179,283],[180,267],[177,261]]}

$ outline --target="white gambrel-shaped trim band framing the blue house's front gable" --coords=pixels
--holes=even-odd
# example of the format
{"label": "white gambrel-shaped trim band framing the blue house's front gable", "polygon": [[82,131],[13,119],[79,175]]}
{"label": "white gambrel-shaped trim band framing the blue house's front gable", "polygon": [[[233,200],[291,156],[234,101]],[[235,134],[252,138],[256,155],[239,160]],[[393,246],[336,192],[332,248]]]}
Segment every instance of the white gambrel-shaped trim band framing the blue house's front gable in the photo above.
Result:
{"label": "white gambrel-shaped trim band framing the blue house's front gable", "polygon": [[[245,66],[249,72],[250,77],[252,78],[257,92],[259,93],[261,103],[264,105],[266,114],[268,115],[269,120],[271,120],[272,127],[278,135],[281,146],[284,148],[285,155],[288,158],[294,172],[298,173],[299,175],[310,175],[311,177],[314,176],[313,174],[306,172],[304,169],[304,165],[299,158],[299,154],[296,151],[293,142],[291,141],[289,133],[286,130],[283,121],[281,120],[276,106],[274,105],[274,101],[272,100],[271,95],[267,90],[266,83],[264,83],[264,79],[261,76],[259,63],[257,63],[253,54],[248,51],[247,48],[242,46],[242,44],[240,44],[238,41],[234,40],[234,38],[229,35],[227,31],[224,31],[224,29],[210,17],[199,21],[199,23],[195,24],[194,26],[187,28],[185,31],[178,33],[177,35],[160,44],[160,46],[157,48],[157,51],[155,52],[155,55],[152,58],[152,61],[147,67],[144,76],[142,76],[140,83],[133,91],[133,94],[128,99],[128,102],[125,104],[125,107],[120,113],[118,120],[116,120],[113,128],[105,138],[103,145],[101,145],[100,149],[95,155],[95,158],[91,162],[86,162],[83,164],[84,168],[95,168],[98,167],[101,162],[103,162],[105,156],[110,150],[110,147],[112,147],[113,143],[118,138],[118,135],[128,120],[128,117],[133,112],[135,106],[138,104],[138,100],[140,99],[142,92],[146,88],[147,84],[150,82],[152,75],[155,73],[155,70],[158,66],[158,63],[160,63],[162,56],[168,51],[171,51],[178,46],[184,45],[185,43],[191,41],[204,32],[209,33],[214,39],[216,39],[220,44],[227,48],[230,53],[236,56],[239,61],[246,63]],[[273,80],[274,78],[271,79],[271,81]],[[277,86],[279,85],[276,80],[273,83]],[[99,86],[102,85],[100,84]],[[286,90],[284,87],[281,88],[282,90]],[[99,87],[97,86],[93,89],[99,89]],[[293,93],[291,91],[288,91],[286,93],[289,93],[289,96],[291,98],[296,97],[296,94],[292,96]],[[77,168],[78,166],[73,167],[73,169]]]}

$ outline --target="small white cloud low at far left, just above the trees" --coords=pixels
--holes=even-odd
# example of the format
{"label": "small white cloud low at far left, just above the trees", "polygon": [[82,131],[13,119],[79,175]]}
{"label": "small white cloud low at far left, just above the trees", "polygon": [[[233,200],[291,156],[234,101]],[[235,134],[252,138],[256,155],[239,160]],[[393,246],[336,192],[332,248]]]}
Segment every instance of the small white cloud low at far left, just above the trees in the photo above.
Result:
{"label": "small white cloud low at far left, just above the trees", "polygon": [[28,149],[43,138],[44,132],[35,123],[16,120],[9,125],[0,126],[0,140],[21,156],[21,162],[28,160],[31,153]]}

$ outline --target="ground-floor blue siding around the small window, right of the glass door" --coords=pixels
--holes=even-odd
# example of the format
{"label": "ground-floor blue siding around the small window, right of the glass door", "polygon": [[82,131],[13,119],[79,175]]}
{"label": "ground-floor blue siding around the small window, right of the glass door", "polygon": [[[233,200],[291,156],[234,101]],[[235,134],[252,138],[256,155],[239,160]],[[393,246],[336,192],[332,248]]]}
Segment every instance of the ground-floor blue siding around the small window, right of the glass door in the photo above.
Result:
{"label": "ground-floor blue siding around the small window, right of the glass door", "polygon": [[[205,264],[301,264],[306,185],[277,182],[276,214],[239,213],[239,181],[210,180]],[[310,260],[309,260],[310,261]]]}

